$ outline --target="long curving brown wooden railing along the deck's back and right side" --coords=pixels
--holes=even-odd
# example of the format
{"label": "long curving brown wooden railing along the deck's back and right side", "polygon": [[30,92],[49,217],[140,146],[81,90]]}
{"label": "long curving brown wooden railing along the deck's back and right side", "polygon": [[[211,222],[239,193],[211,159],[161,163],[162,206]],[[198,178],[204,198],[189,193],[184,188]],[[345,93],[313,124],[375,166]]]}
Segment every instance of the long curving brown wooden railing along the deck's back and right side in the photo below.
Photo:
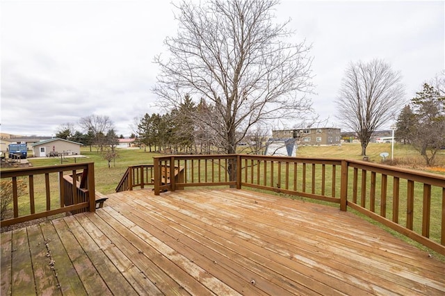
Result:
{"label": "long curving brown wooden railing along the deck's back and right side", "polygon": [[[184,179],[161,181],[162,167]],[[232,172],[232,173],[231,173]],[[445,255],[445,176],[366,161],[253,155],[154,157],[154,194],[191,186],[255,188],[339,204]]]}

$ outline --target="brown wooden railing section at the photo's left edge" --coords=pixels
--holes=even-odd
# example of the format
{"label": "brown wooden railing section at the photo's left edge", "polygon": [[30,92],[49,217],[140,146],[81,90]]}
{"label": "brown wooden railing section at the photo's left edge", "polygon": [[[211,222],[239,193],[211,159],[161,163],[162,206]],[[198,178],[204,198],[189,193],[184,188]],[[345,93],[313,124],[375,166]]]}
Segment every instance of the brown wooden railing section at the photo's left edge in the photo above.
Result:
{"label": "brown wooden railing section at the photo's left edge", "polygon": [[[64,176],[64,172],[70,174]],[[59,213],[95,211],[94,163],[6,170],[1,180],[13,186],[13,217],[2,220],[1,227]],[[22,196],[17,191],[19,181],[26,184]],[[38,208],[40,204],[44,207]]]}

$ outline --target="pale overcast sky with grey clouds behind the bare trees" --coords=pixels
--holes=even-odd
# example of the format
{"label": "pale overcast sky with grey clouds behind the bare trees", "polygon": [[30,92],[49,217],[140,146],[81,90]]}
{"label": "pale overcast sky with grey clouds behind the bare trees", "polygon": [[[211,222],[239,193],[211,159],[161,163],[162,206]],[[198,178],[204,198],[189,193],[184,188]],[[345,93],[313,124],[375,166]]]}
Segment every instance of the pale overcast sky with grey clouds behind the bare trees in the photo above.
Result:
{"label": "pale overcast sky with grey clouds behind the bare trees", "polygon": [[[351,61],[385,60],[414,97],[445,69],[444,3],[282,1],[277,22],[291,18],[295,42],[313,46],[316,113],[337,126],[333,101]],[[96,114],[129,136],[134,117],[161,112],[152,60],[177,30],[170,1],[2,0],[0,10],[1,132],[55,135]]]}

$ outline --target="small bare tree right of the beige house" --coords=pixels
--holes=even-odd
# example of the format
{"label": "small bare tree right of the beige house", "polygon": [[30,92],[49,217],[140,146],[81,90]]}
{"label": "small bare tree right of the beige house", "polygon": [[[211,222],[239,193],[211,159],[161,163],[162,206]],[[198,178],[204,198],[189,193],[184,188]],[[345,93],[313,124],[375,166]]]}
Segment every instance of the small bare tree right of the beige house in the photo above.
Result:
{"label": "small bare tree right of the beige house", "polygon": [[84,131],[90,131],[94,135],[93,142],[98,145],[100,151],[106,144],[106,134],[114,129],[114,124],[110,117],[106,115],[89,115],[79,120],[79,125]]}

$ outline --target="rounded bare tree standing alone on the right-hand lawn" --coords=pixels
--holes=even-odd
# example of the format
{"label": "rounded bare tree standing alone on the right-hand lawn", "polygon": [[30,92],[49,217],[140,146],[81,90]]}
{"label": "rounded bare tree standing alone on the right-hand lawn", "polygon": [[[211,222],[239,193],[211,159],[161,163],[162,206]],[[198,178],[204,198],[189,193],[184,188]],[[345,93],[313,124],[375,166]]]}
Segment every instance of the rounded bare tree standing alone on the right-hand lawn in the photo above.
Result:
{"label": "rounded bare tree standing alone on the right-hand lawn", "polygon": [[404,94],[401,74],[383,60],[350,63],[346,69],[336,100],[337,117],[357,133],[363,156],[374,131],[405,104]]}

